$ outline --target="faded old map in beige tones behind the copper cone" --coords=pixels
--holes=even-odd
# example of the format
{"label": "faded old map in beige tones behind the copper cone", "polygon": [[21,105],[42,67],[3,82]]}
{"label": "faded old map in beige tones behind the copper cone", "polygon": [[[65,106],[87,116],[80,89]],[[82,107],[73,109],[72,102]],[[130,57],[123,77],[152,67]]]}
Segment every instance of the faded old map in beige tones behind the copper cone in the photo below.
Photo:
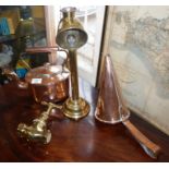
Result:
{"label": "faded old map in beige tones behind the copper cone", "polygon": [[110,37],[128,105],[169,134],[169,7],[114,7]]}

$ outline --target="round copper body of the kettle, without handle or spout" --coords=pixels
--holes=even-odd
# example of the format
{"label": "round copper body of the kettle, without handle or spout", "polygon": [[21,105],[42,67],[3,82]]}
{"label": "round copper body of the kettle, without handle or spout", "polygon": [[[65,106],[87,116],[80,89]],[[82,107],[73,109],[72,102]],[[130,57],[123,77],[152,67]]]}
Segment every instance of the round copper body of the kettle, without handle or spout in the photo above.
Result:
{"label": "round copper body of the kettle, without handle or spout", "polygon": [[37,102],[58,102],[69,96],[69,76],[67,68],[46,64],[29,70],[25,81]]}

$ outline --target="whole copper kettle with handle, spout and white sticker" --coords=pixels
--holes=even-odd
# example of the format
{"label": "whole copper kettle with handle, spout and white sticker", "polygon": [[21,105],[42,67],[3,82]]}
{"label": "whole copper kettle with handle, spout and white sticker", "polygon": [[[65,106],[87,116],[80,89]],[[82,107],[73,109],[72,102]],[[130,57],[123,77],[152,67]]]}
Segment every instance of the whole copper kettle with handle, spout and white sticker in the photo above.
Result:
{"label": "whole copper kettle with handle, spout and white sticker", "polygon": [[28,69],[24,82],[17,77],[15,72],[7,70],[4,71],[8,75],[11,75],[16,80],[17,86],[20,88],[28,89],[33,98],[37,102],[58,102],[64,100],[69,96],[70,71],[65,67],[65,64],[68,63],[67,50],[58,47],[34,47],[27,48],[25,53],[40,53],[53,51],[63,51],[67,53],[67,59],[62,65],[46,63],[41,67],[31,69],[29,65],[26,65],[24,60],[22,60]]}

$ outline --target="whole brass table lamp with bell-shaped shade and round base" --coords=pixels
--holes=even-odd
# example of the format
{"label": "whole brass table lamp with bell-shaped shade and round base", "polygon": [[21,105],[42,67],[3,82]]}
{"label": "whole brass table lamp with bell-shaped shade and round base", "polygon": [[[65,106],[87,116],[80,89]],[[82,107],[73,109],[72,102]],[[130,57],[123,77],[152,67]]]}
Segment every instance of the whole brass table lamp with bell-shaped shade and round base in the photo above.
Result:
{"label": "whole brass table lamp with bell-shaped shade and round base", "polygon": [[75,8],[61,10],[63,17],[58,27],[57,44],[69,50],[72,95],[63,104],[63,113],[74,120],[81,119],[89,112],[88,102],[79,96],[79,74],[76,50],[86,44],[87,34],[75,19]]}

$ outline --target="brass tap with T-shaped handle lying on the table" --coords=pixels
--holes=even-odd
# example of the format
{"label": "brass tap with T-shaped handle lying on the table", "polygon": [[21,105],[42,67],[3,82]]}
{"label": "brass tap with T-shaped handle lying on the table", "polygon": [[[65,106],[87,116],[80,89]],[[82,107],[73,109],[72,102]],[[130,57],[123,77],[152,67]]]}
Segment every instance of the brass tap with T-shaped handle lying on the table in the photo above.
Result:
{"label": "brass tap with T-shaped handle lying on the table", "polygon": [[62,107],[45,101],[41,104],[48,106],[47,111],[44,111],[39,118],[34,119],[32,125],[20,123],[17,126],[17,133],[21,137],[25,137],[27,141],[48,144],[51,140],[51,132],[47,129],[47,120],[53,108],[61,109]]}

